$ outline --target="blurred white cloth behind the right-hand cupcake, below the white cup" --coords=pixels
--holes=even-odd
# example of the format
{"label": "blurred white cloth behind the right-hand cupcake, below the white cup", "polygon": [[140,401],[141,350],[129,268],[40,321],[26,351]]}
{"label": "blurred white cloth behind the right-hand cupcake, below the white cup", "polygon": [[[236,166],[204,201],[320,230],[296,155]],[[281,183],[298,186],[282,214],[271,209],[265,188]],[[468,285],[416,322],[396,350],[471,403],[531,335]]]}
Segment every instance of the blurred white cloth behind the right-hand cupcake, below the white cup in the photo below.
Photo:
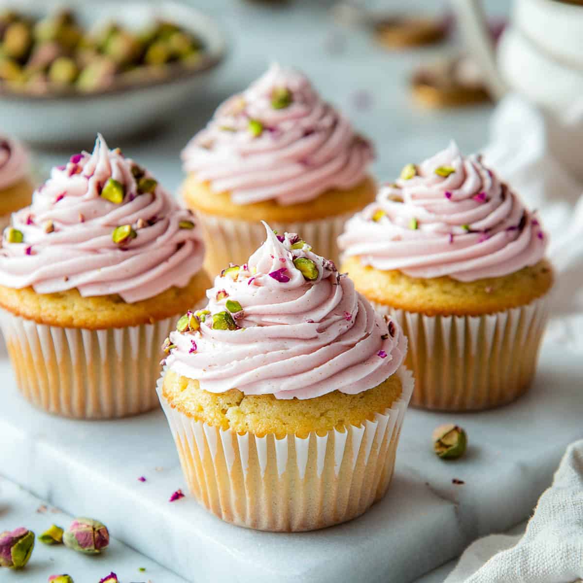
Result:
{"label": "blurred white cloth behind the right-hand cupcake, below the white cup", "polygon": [[[491,143],[483,153],[484,161],[539,210],[550,233],[549,257],[559,274],[547,336],[583,353],[578,333],[583,328],[583,183],[549,146],[549,134],[556,134],[557,127],[524,98],[510,94],[494,111]],[[581,160],[583,164],[583,154]]]}

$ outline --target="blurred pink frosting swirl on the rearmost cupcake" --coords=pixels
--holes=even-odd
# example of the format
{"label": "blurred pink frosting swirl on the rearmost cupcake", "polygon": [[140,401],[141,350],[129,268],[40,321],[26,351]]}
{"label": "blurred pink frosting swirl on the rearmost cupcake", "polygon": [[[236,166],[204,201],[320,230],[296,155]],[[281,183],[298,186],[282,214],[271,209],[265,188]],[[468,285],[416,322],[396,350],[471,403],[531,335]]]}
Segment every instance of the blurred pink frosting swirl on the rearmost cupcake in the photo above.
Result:
{"label": "blurred pink frosting swirl on the rearmost cupcake", "polygon": [[225,101],[182,152],[184,169],[236,205],[310,201],[366,175],[373,150],[304,75],[279,65]]}

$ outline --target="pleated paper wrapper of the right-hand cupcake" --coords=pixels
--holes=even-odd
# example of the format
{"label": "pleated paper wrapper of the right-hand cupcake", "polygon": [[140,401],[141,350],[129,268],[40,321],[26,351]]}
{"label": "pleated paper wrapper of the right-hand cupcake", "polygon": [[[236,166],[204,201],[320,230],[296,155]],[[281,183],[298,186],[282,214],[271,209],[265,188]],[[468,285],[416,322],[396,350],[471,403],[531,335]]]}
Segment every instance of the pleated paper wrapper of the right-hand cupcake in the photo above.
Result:
{"label": "pleated paper wrapper of the right-hand cupcake", "polygon": [[409,338],[411,405],[442,411],[490,409],[530,388],[549,315],[547,297],[496,314],[426,316],[371,302]]}

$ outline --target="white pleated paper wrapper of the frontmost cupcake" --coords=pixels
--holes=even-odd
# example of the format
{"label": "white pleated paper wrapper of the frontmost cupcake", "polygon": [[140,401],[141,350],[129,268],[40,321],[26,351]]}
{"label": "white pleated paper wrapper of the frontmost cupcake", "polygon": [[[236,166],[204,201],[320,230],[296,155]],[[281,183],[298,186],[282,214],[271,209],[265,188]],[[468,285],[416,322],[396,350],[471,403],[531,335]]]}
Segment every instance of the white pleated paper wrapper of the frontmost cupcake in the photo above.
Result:
{"label": "white pleated paper wrapper of the frontmost cupcake", "polygon": [[413,377],[398,373],[401,398],[374,421],[306,438],[218,429],[168,405],[166,413],[193,496],[217,517],[262,531],[311,531],[363,514],[387,491]]}

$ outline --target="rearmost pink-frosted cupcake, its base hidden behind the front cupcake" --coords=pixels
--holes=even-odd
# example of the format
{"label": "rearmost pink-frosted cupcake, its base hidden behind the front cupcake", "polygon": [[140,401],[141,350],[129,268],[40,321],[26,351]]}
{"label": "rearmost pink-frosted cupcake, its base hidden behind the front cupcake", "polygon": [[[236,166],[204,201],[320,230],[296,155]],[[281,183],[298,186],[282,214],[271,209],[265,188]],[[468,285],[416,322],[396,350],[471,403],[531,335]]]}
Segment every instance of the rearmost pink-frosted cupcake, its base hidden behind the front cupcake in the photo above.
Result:
{"label": "rearmost pink-frosted cupcake, its base hidden behind the front cupcake", "polygon": [[223,103],[182,159],[182,196],[202,221],[210,273],[247,261],[264,240],[260,220],[335,260],[346,220],[374,201],[370,144],[304,75],[278,65]]}

